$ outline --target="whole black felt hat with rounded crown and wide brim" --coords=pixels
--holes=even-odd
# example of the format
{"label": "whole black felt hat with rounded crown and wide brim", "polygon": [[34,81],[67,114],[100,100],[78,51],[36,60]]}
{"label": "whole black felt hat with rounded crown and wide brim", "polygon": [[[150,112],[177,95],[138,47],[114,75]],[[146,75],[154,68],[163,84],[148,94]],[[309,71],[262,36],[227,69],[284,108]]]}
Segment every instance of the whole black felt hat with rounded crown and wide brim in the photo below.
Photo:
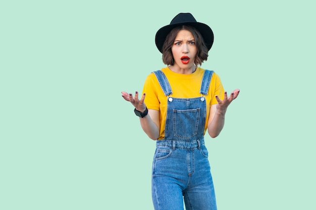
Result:
{"label": "whole black felt hat with rounded crown and wide brim", "polygon": [[162,27],[156,33],[155,43],[161,53],[163,53],[163,45],[169,32],[175,27],[182,25],[194,27],[201,33],[207,49],[209,50],[212,47],[214,41],[212,29],[204,23],[197,22],[191,13],[179,13],[169,25]]}

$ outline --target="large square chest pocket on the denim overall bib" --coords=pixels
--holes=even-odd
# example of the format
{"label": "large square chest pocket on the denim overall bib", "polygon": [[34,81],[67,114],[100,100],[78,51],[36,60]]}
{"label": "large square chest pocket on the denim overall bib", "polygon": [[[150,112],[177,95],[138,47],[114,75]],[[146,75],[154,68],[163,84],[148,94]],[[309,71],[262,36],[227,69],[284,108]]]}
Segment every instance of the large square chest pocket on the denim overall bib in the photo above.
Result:
{"label": "large square chest pocket on the denim overall bib", "polygon": [[173,127],[174,136],[189,139],[197,134],[200,108],[197,109],[174,109]]}

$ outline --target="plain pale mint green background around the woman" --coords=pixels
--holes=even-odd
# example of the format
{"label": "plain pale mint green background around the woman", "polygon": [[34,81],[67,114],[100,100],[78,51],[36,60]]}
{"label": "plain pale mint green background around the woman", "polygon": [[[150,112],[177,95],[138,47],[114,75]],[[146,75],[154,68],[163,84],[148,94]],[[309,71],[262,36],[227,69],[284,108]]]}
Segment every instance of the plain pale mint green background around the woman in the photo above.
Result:
{"label": "plain pale mint green background around the woman", "polygon": [[202,67],[241,90],[206,136],[218,208],[316,209],[312,1],[8,2],[0,209],[153,209],[155,142],[121,91],[165,66],[154,35],[180,12],[215,33]]}

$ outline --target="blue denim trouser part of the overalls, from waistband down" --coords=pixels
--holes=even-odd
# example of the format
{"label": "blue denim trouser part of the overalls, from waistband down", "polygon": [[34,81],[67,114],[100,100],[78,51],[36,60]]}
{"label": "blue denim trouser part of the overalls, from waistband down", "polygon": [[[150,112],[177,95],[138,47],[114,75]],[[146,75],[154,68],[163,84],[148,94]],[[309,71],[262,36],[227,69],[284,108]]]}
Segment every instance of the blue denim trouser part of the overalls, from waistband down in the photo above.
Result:
{"label": "blue denim trouser part of the overalls, from waistband down", "polygon": [[155,210],[216,210],[208,152],[203,138],[193,142],[157,141],[152,165]]}

